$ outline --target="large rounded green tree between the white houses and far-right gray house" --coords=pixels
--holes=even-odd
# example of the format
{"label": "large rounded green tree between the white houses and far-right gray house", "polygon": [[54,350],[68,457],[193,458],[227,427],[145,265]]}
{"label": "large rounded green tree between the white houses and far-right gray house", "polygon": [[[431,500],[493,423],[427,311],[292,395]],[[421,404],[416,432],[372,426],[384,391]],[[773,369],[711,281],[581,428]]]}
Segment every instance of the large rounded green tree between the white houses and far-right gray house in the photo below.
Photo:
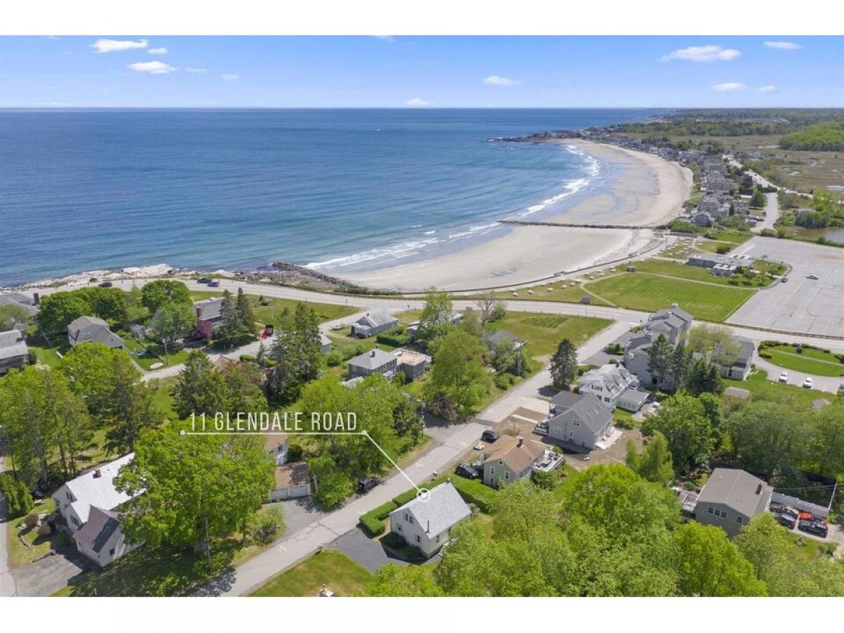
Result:
{"label": "large rounded green tree between the white houses and far-right gray house", "polygon": [[705,463],[715,447],[716,433],[706,408],[699,398],[678,393],[663,400],[656,413],[642,423],[641,432],[665,436],[678,474]]}

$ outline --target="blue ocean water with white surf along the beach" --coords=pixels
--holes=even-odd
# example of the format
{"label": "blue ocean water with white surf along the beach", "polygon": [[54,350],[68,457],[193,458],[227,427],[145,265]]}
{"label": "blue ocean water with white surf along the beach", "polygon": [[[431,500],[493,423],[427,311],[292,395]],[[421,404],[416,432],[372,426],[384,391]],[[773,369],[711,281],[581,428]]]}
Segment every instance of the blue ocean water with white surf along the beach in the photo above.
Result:
{"label": "blue ocean water with white surf along the beach", "polygon": [[453,248],[595,176],[487,138],[654,110],[0,111],[0,284],[166,262],[329,272]]}

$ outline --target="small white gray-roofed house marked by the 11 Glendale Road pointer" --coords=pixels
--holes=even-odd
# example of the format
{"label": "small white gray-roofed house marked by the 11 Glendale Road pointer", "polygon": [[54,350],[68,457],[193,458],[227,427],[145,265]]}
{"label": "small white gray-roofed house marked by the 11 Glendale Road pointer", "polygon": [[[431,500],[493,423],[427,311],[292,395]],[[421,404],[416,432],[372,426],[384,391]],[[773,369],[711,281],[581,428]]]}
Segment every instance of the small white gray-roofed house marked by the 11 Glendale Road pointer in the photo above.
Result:
{"label": "small white gray-roofed house marked by the 11 Glendale Road pointer", "polygon": [[401,536],[430,558],[448,543],[451,529],[472,515],[469,506],[446,481],[390,512],[390,532]]}

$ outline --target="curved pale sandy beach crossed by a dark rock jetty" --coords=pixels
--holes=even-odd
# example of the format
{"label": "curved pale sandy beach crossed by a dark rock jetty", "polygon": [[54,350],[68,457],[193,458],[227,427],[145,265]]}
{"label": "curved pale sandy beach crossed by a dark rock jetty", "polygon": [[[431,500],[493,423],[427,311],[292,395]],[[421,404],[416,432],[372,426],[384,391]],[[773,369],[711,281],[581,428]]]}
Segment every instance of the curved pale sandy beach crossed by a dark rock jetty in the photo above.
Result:
{"label": "curved pale sandy beach crossed by a dark rock jetty", "polygon": [[652,154],[587,141],[569,146],[621,170],[608,189],[595,192],[552,222],[623,224],[641,229],[581,229],[515,226],[506,235],[458,252],[363,272],[339,273],[356,284],[379,289],[452,291],[517,286],[587,266],[627,257],[655,246],[649,226],[676,217],[691,186],[691,171]]}

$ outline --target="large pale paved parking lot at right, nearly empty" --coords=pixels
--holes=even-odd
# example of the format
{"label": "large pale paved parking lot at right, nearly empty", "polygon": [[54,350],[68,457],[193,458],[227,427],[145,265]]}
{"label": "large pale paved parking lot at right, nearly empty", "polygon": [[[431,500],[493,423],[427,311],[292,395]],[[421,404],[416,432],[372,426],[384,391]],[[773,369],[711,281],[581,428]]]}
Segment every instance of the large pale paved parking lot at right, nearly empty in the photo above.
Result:
{"label": "large pale paved parking lot at right, nearly empty", "polygon": [[[793,333],[844,336],[844,249],[774,237],[754,237],[733,251],[786,262],[787,283],[755,293],[728,323]],[[808,279],[807,275],[818,279]]]}

